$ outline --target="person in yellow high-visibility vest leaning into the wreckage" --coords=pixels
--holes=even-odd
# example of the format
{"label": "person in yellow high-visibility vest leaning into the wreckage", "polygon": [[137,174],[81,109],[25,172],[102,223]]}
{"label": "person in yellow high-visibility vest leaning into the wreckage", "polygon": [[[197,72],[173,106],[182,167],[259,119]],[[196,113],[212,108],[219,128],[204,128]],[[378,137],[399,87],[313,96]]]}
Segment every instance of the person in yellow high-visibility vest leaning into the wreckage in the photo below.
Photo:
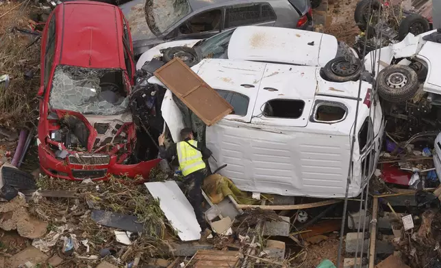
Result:
{"label": "person in yellow high-visibility vest leaning into the wreckage", "polygon": [[177,155],[179,167],[182,175],[184,175],[184,183],[187,189],[186,196],[194,209],[197,222],[201,226],[201,239],[203,240],[211,233],[202,213],[203,196],[201,187],[203,179],[207,176],[203,159],[210,158],[212,152],[200,142],[194,140],[192,129],[182,129],[180,134],[182,142],[173,144],[168,149],[164,146],[164,134],[160,135],[157,139],[160,146],[160,157],[171,160]]}

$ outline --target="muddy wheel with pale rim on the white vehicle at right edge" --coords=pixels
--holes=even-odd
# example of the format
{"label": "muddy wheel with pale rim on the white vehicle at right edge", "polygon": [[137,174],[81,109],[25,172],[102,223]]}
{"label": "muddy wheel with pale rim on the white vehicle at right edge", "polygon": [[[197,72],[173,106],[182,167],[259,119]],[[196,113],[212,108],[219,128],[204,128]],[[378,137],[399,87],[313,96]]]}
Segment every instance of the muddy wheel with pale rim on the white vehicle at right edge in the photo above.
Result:
{"label": "muddy wheel with pale rim on the white vehicle at right edge", "polygon": [[412,98],[418,91],[418,75],[405,65],[390,65],[377,77],[378,94],[383,100],[401,103]]}

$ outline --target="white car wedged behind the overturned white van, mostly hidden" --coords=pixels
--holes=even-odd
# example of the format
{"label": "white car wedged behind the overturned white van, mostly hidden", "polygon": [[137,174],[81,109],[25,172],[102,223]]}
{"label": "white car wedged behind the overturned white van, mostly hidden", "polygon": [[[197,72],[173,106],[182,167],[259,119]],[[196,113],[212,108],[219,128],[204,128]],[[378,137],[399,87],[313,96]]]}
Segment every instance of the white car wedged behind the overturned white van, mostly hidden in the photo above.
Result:
{"label": "white car wedged behind the overturned white van, mostly hidden", "polygon": [[332,81],[356,81],[362,72],[357,53],[335,36],[280,27],[243,26],[204,40],[166,42],[144,52],[136,64],[140,70],[153,58],[168,62],[179,57],[188,66],[201,59],[242,59],[323,67]]}

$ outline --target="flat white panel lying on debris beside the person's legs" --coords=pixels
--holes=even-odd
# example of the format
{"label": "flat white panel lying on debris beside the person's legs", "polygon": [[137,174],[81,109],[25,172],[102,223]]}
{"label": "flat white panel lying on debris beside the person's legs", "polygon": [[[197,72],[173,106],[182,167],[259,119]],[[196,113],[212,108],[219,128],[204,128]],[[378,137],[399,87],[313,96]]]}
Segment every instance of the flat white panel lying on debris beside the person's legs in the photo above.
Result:
{"label": "flat white panel lying on debris beside the person's legs", "polygon": [[159,198],[160,208],[168,222],[177,230],[179,239],[194,241],[201,238],[201,227],[197,223],[194,210],[174,180],[144,185],[153,198]]}

